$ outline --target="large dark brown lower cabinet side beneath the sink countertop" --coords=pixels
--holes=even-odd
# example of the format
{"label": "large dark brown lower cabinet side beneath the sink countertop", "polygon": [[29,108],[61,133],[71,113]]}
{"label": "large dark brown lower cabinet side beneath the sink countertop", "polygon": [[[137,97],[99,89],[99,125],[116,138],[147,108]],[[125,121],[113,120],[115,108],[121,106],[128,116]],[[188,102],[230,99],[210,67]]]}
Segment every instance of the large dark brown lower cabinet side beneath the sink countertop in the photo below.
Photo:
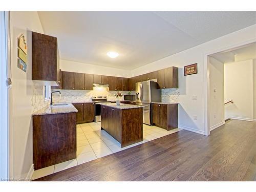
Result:
{"label": "large dark brown lower cabinet side beneath the sink countertop", "polygon": [[33,116],[34,169],[75,158],[76,113]]}

